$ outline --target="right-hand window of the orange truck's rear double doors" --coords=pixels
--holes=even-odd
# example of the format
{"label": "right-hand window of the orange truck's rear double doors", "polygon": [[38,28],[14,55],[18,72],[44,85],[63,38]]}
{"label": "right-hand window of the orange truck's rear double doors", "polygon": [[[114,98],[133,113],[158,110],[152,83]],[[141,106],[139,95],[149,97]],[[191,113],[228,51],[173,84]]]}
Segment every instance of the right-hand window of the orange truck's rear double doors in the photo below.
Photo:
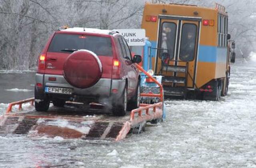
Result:
{"label": "right-hand window of the orange truck's rear double doors", "polygon": [[197,26],[192,23],[182,25],[181,43],[180,43],[180,60],[192,61],[195,55]]}

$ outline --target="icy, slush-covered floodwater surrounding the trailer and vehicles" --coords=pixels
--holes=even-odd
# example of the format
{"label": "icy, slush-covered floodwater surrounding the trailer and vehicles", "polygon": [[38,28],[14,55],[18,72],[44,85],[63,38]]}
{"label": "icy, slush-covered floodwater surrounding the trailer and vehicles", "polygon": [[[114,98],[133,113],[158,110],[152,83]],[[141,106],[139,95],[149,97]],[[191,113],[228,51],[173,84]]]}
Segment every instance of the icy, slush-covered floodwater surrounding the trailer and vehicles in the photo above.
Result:
{"label": "icy, slush-covered floodwater surrounding the trailer and vehicles", "polygon": [[[33,80],[32,74],[0,74],[1,92],[33,90]],[[6,98],[33,94],[4,93],[0,114]],[[119,142],[0,135],[0,167],[256,167],[256,62],[232,65],[229,93],[221,101],[169,100],[166,107],[166,121]]]}

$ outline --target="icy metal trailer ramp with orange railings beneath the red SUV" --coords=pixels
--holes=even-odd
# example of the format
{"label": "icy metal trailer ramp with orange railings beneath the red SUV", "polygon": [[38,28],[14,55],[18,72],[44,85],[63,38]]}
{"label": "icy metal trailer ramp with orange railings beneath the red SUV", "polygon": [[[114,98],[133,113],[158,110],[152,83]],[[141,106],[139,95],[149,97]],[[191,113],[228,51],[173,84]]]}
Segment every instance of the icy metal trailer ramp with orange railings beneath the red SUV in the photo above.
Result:
{"label": "icy metal trailer ramp with orange railings beneath the red SUV", "polygon": [[[137,65],[138,66],[138,65]],[[124,139],[130,130],[141,129],[146,122],[162,120],[163,88],[140,66],[138,68],[160,86],[160,94],[141,94],[159,98],[156,104],[140,104],[140,107],[127,112],[123,117],[113,116],[109,109],[92,108],[89,105],[66,102],[64,107],[51,106],[48,111],[36,111],[34,108],[21,111],[22,104],[34,105],[34,98],[10,103],[6,113],[0,115],[0,135],[16,134],[29,137],[47,135],[63,138]],[[18,105],[18,112],[12,107]],[[95,104],[94,104],[95,106]]]}

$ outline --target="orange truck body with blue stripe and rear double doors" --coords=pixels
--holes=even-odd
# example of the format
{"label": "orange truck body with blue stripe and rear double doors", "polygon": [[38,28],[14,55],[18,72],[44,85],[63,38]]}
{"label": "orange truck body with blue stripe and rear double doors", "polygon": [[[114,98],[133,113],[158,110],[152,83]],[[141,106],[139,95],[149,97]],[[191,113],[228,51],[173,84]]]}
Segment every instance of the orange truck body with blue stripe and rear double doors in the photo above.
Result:
{"label": "orange truck body with blue stripe and rear double doors", "polygon": [[[168,25],[170,28],[164,27]],[[205,8],[179,4],[146,3],[142,17],[142,29],[146,30],[146,37],[152,43],[152,66],[156,74],[186,78],[187,90],[205,89],[206,85],[218,80],[222,95],[225,94],[227,79],[230,71],[228,54],[228,15],[223,6]],[[189,60],[182,60],[182,49],[186,50],[186,31],[194,29],[194,44],[191,51],[193,56]],[[168,30],[168,31],[165,31]],[[171,49],[163,48],[165,34],[172,32]],[[174,33],[175,32],[175,33]],[[189,32],[187,32],[189,34]],[[183,40],[183,42],[182,42]],[[166,40],[167,41],[167,40]],[[161,45],[162,43],[162,45]],[[171,42],[170,42],[171,43]],[[170,45],[170,44],[169,44]],[[184,46],[182,48],[182,45]],[[191,45],[190,45],[191,46]],[[167,50],[168,63],[164,63],[160,54]],[[170,56],[172,55],[172,56]],[[172,72],[168,66],[187,66],[188,74]],[[166,71],[165,71],[166,70]],[[163,72],[165,71],[165,72]],[[164,86],[174,86],[174,82],[163,83]],[[175,84],[182,87],[185,84]],[[208,86],[209,87],[209,86]]]}

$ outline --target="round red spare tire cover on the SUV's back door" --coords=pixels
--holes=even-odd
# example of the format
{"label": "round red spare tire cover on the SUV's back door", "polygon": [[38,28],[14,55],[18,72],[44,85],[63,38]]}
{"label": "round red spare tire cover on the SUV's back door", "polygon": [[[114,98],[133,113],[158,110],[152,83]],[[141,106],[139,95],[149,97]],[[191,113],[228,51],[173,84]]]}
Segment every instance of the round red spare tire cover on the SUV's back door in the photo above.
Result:
{"label": "round red spare tire cover on the SUV's back door", "polygon": [[76,88],[89,88],[100,80],[102,64],[98,56],[89,50],[70,54],[63,67],[64,78]]}

